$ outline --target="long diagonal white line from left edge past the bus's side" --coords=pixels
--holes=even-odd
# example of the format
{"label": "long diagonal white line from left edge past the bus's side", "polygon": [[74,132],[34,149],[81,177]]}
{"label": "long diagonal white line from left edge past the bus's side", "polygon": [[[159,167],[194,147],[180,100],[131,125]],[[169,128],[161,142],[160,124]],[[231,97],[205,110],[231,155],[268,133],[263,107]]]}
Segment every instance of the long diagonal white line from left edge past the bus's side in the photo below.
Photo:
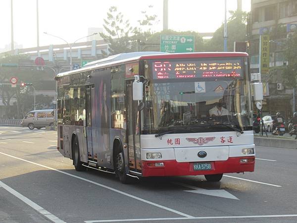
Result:
{"label": "long diagonal white line from left edge past the bus's side", "polygon": [[128,193],[126,193],[126,192],[123,192],[123,191],[114,189],[114,188],[109,187],[109,186],[105,186],[105,185],[103,185],[103,184],[97,183],[97,182],[92,181],[92,180],[89,180],[89,179],[85,179],[85,178],[80,177],[80,176],[73,175],[73,174],[68,173],[68,172],[63,172],[63,171],[61,171],[61,170],[58,170],[58,169],[55,169],[55,168],[51,168],[51,167],[47,167],[47,166],[44,166],[44,165],[42,165],[42,164],[37,164],[37,163],[31,162],[31,161],[28,161],[28,160],[24,160],[24,159],[21,159],[21,158],[18,158],[18,157],[14,157],[14,156],[8,155],[8,154],[6,154],[6,153],[1,153],[1,152],[0,152],[0,154],[5,155],[5,156],[8,156],[8,157],[11,157],[11,158],[14,158],[14,159],[17,159],[17,160],[21,160],[21,161],[24,161],[24,162],[27,162],[27,163],[30,163],[30,164],[34,164],[34,165],[36,165],[36,166],[45,167],[45,168],[48,168],[48,169],[57,171],[57,172],[59,172],[59,173],[63,173],[63,174],[65,174],[65,175],[72,176],[72,177],[75,177],[75,178],[77,178],[77,179],[84,180],[84,181],[89,182],[89,183],[93,183],[93,184],[95,184],[95,185],[98,185],[98,186],[103,187],[103,188],[105,188],[105,189],[111,190],[111,191],[113,191],[113,192],[122,194],[122,195],[124,195],[124,196],[133,198],[133,199],[138,200],[138,201],[142,201],[142,202],[144,202],[144,203],[153,205],[153,206],[155,206],[155,207],[164,209],[164,210],[169,211],[169,212],[173,212],[173,213],[175,213],[175,214],[178,214],[178,215],[181,215],[181,216],[184,216],[184,217],[187,217],[187,218],[193,218],[193,216],[191,216],[191,215],[187,215],[187,214],[185,214],[185,213],[176,211],[176,210],[174,210],[174,209],[167,208],[167,207],[165,207],[165,206],[162,206],[162,205],[159,205],[159,204],[150,202],[150,201],[145,200],[145,199],[142,199],[142,198],[140,198],[140,197],[137,197],[137,196],[128,194]]}

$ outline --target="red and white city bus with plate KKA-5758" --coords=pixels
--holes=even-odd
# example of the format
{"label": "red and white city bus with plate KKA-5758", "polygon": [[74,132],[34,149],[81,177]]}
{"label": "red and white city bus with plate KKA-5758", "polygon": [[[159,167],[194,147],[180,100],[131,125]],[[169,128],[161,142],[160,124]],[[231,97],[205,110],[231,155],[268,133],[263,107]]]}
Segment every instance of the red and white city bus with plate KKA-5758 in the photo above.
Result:
{"label": "red and white city bus with plate KKA-5758", "polygon": [[254,171],[246,53],[137,52],[60,73],[58,151],[129,177]]}

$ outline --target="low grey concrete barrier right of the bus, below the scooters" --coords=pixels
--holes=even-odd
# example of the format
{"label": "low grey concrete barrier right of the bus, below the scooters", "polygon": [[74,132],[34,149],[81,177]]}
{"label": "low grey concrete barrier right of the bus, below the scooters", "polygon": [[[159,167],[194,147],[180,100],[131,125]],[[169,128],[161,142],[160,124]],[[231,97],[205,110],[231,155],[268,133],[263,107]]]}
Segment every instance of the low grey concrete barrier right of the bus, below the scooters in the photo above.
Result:
{"label": "low grey concrete barrier right of the bus, below the scooters", "polygon": [[297,140],[295,139],[254,137],[254,144],[256,146],[275,147],[283,149],[297,149]]}

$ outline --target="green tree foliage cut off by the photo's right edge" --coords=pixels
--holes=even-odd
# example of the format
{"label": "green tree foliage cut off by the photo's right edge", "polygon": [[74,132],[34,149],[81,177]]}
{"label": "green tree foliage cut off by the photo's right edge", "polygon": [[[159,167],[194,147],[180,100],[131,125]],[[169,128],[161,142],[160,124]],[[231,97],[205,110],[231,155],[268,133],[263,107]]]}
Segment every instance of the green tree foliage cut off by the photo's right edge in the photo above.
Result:
{"label": "green tree foliage cut off by the photo's right edge", "polygon": [[291,87],[297,87],[297,33],[289,36],[284,52],[288,65],[283,68],[283,77]]}

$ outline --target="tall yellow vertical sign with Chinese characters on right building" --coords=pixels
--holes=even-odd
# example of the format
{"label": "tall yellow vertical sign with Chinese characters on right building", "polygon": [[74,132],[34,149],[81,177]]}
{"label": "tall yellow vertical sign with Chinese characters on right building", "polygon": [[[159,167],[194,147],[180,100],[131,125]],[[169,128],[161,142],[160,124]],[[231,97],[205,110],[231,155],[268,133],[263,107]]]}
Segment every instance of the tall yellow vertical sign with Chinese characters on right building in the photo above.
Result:
{"label": "tall yellow vertical sign with Chinese characters on right building", "polygon": [[260,36],[260,73],[269,71],[269,35]]}

